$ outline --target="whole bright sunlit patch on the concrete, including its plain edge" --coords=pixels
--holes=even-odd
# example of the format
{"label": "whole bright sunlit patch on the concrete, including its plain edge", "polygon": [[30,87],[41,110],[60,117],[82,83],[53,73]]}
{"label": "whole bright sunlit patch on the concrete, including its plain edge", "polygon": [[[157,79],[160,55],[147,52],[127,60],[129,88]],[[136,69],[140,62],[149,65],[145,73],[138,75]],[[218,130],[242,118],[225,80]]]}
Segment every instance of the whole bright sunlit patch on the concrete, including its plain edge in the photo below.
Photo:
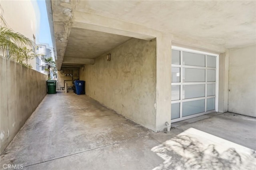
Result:
{"label": "whole bright sunlit patch on the concrete, including its plain edge", "polygon": [[195,128],[151,149],[164,162],[154,170],[256,169],[256,152]]}

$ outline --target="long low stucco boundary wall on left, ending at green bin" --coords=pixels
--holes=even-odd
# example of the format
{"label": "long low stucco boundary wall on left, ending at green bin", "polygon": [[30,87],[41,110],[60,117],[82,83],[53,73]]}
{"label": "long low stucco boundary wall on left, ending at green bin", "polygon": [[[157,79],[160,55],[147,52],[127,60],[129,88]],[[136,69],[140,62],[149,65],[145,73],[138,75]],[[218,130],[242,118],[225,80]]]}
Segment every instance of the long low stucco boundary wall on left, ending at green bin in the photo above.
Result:
{"label": "long low stucco boundary wall on left, ending at green bin", "polygon": [[46,95],[47,75],[0,57],[0,152]]}

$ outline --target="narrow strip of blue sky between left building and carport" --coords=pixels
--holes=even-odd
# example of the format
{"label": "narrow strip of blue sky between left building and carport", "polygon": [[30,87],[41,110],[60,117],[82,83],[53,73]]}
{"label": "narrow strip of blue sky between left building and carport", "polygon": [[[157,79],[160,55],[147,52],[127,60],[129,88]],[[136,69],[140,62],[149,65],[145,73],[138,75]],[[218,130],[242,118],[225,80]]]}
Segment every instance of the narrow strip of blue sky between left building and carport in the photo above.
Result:
{"label": "narrow strip of blue sky between left building and carport", "polygon": [[52,38],[48,22],[45,0],[36,0],[40,10],[39,42],[48,43],[52,47]]}

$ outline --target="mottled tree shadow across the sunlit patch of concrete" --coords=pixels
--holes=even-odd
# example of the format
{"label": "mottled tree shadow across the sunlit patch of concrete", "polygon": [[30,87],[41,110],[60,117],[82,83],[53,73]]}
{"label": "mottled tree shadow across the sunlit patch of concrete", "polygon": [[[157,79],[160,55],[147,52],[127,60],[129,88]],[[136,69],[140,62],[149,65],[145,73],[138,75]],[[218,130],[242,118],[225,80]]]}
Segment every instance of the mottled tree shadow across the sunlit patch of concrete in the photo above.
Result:
{"label": "mottled tree shadow across the sunlit patch of concrete", "polygon": [[214,144],[202,144],[197,138],[181,135],[166,140],[164,143],[151,149],[164,162],[154,170],[240,170],[256,169],[256,152],[251,150],[250,155],[244,156],[242,161],[235,148],[225,148],[218,151]]}

